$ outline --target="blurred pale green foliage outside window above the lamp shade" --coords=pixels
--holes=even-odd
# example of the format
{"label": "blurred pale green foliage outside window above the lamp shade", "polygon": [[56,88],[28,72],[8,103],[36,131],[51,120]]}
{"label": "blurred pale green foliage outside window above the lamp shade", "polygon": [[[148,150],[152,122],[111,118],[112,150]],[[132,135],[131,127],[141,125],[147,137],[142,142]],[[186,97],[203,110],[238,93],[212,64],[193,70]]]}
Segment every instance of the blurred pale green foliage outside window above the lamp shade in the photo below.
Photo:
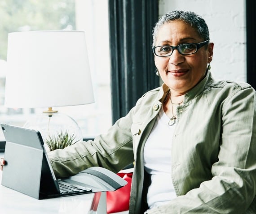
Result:
{"label": "blurred pale green foliage outside window above the lamp shade", "polygon": [[65,29],[75,30],[75,0],[0,0],[0,59],[10,32]]}

